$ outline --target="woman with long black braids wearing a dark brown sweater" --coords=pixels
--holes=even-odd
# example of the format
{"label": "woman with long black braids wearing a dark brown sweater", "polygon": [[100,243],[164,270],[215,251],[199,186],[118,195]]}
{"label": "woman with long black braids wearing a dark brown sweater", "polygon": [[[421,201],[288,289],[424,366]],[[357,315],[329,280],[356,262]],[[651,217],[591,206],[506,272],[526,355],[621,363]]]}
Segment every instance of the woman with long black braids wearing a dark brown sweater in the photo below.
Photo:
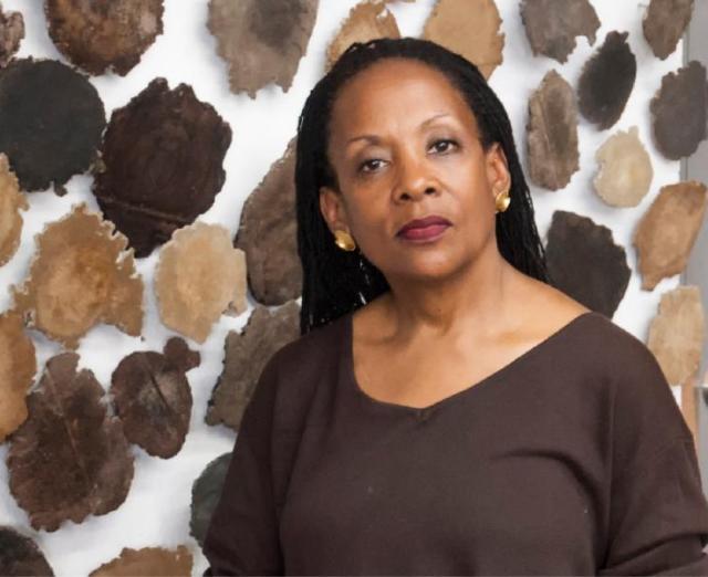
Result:
{"label": "woman with long black braids wearing a dark brown sweater", "polygon": [[478,70],[354,44],[296,154],[302,336],[243,415],[206,575],[708,575],[691,433],[652,353],[549,285]]}

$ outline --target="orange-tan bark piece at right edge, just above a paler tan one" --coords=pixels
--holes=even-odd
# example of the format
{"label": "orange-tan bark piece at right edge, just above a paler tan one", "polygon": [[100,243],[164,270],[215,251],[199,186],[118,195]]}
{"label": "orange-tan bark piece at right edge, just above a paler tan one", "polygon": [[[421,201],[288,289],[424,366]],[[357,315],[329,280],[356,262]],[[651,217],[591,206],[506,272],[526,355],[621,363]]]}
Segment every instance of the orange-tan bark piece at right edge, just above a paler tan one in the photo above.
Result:
{"label": "orange-tan bark piece at right edge, just above a paler tan one", "polygon": [[663,279],[686,267],[707,203],[708,191],[702,182],[662,187],[633,238],[642,288],[652,291]]}

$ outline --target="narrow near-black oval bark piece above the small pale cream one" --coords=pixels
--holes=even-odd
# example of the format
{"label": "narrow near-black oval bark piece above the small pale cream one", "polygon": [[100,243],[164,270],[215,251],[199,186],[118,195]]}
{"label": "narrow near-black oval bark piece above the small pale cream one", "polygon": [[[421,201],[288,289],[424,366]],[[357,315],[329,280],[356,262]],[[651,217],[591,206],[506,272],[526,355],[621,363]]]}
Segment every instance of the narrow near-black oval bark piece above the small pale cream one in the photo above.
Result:
{"label": "narrow near-black oval bark piece above the small pale cream one", "polygon": [[602,130],[622,116],[637,75],[637,60],[627,44],[627,34],[610,32],[580,76],[580,112]]}

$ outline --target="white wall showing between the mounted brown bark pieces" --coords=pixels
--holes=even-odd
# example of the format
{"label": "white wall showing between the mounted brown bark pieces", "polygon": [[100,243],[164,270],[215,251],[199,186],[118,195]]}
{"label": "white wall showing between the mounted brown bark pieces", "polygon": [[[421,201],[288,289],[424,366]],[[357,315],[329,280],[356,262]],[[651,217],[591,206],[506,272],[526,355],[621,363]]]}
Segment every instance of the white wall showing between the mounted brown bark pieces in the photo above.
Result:
{"label": "white wall showing between the mounted brown bark pieces", "polygon": [[[656,59],[642,34],[642,17],[647,1],[593,0],[602,28],[595,46],[584,38],[566,64],[531,54],[518,12],[517,0],[497,0],[506,33],[504,64],[493,73],[490,84],[507,105],[514,127],[517,145],[525,158],[524,127],[529,94],[539,85],[543,75],[555,67],[576,86],[583,63],[602,44],[612,30],[628,31],[629,45],[637,57],[637,80],[620,122],[610,130],[597,132],[580,119],[581,170],[566,189],[551,192],[532,188],[541,234],[550,224],[554,210],[571,210],[591,217],[595,222],[610,227],[616,242],[622,243],[633,271],[624,301],[614,321],[616,324],[646,340],[648,323],[656,312],[662,293],[678,285],[678,276],[659,283],[653,292],[639,288],[636,273],[636,255],[631,245],[634,228],[655,198],[660,186],[678,180],[679,162],[663,159],[650,138],[649,99],[659,86],[660,77],[681,65],[681,46],[666,61]],[[398,19],[404,35],[418,35],[433,6],[433,0],[415,3],[394,3],[392,11]],[[39,0],[3,0],[4,10],[23,12],[27,35],[20,56],[64,60],[49,39],[44,15]],[[175,87],[179,82],[191,84],[198,98],[211,103],[228,120],[233,130],[225,166],[227,179],[222,192],[211,209],[199,219],[226,225],[236,232],[241,206],[267,172],[270,164],[283,153],[294,135],[296,118],[304,99],[321,76],[324,51],[329,40],[345,18],[354,0],[321,0],[317,21],[310,41],[308,54],[300,63],[292,87],[283,93],[268,86],[252,101],[246,95],[233,95],[227,83],[226,64],[216,54],[216,42],[206,28],[207,0],[165,0],[165,32],[143,56],[143,61],[126,77],[105,75],[93,77],[110,116],[114,107],[125,105],[155,76],[165,76]],[[654,164],[654,181],[649,195],[633,209],[616,209],[603,203],[592,189],[595,174],[596,148],[618,129],[637,125]],[[98,207],[90,192],[91,178],[81,176],[69,181],[69,193],[60,198],[52,191],[29,195],[30,210],[24,212],[24,229],[20,250],[0,267],[0,311],[11,305],[6,287],[20,283],[29,270],[34,251],[33,235],[48,222],[69,212],[70,207],[85,201],[95,210]],[[100,326],[81,342],[77,353],[81,366],[92,369],[104,387],[110,385],[111,374],[117,363],[133,350],[162,350],[170,333],[159,323],[152,288],[153,270],[158,251],[137,262],[146,284],[146,318],[144,340],[133,338],[115,328]],[[194,409],[190,431],[181,451],[173,459],[162,460],[147,455],[133,447],[136,457],[135,478],[125,503],[116,511],[91,516],[76,525],[64,523],[54,533],[32,532],[25,513],[20,510],[8,490],[4,464],[7,444],[0,445],[0,524],[22,527],[34,536],[53,566],[56,575],[85,575],[98,565],[117,556],[123,547],[165,546],[186,544],[195,555],[194,575],[200,575],[206,560],[199,547],[189,536],[190,490],[204,466],[219,454],[230,451],[235,433],[226,427],[208,427],[204,422],[207,401],[220,371],[223,338],[228,331],[240,329],[250,315],[249,311],[237,318],[223,316],[208,340],[197,347],[201,365],[188,374],[192,388]],[[31,332],[38,352],[38,366],[58,354],[60,347],[38,332]]]}

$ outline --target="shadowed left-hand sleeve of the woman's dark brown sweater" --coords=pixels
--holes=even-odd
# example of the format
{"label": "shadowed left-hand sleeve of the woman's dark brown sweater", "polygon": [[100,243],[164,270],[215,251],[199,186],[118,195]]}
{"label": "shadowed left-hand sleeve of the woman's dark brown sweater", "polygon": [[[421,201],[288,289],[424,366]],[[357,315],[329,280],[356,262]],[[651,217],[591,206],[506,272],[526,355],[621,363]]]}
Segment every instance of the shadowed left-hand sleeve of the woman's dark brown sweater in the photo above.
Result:
{"label": "shadowed left-hand sleeve of the woman's dark brown sweater", "polygon": [[204,543],[205,576],[282,575],[271,476],[274,358],[246,406],[220,500]]}

